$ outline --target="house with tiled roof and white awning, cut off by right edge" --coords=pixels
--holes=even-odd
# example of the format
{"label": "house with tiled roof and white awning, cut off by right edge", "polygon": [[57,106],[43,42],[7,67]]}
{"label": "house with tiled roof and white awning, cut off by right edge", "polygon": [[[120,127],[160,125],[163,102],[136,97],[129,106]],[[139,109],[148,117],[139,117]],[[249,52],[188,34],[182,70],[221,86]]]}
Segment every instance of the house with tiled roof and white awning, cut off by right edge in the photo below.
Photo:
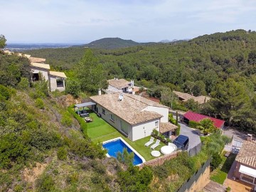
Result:
{"label": "house with tiled roof and white awning, cut off by right edge", "polygon": [[256,185],[256,142],[243,142],[235,158],[235,177]]}

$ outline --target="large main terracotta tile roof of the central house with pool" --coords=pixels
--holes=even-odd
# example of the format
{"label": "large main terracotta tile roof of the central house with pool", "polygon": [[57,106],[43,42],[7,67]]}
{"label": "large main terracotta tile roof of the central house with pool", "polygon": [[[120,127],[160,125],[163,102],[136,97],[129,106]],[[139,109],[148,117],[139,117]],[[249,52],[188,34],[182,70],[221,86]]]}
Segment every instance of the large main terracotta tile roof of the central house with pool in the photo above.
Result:
{"label": "large main terracotta tile roof of the central house with pool", "polygon": [[148,101],[138,95],[123,93],[123,97],[122,101],[118,100],[119,93],[114,92],[112,94],[92,96],[90,99],[132,125],[162,117],[161,114],[156,112],[144,110],[148,106],[159,106],[158,103]]}

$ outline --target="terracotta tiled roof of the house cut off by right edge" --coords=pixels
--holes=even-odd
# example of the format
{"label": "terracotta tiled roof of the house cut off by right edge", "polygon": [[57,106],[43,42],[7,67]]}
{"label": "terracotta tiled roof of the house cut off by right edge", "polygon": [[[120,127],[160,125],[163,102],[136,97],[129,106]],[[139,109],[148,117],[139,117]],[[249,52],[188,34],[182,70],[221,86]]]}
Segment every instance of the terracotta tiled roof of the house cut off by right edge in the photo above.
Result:
{"label": "terracotta tiled roof of the house cut off by right edge", "polygon": [[243,142],[235,160],[242,164],[256,168],[256,142]]}

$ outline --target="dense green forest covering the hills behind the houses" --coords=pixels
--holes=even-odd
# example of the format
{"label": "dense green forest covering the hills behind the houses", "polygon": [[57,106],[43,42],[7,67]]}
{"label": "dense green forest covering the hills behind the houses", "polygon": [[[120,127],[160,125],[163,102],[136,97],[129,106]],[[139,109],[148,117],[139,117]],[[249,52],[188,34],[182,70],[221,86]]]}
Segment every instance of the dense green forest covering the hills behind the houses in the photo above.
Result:
{"label": "dense green forest covering the hills behind the houses", "polygon": [[[85,48],[32,50],[47,58],[53,69],[74,78],[75,65]],[[134,79],[139,86],[161,98],[171,90],[213,99],[198,106],[162,100],[174,110],[194,110],[225,119],[228,125],[256,132],[256,32],[236,30],[199,36],[190,41],[158,43],[115,50],[92,49],[107,79]],[[171,97],[169,97],[171,98]]]}

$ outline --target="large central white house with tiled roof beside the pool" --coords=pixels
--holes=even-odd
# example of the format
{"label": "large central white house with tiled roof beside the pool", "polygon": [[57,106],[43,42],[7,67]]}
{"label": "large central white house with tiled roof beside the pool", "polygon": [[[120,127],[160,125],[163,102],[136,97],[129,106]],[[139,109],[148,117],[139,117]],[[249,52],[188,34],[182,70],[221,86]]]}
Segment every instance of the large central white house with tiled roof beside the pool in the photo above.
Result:
{"label": "large central white house with tiled roof beside the pool", "polygon": [[167,137],[176,125],[168,122],[169,107],[139,95],[114,92],[90,97],[92,110],[132,141],[151,135],[156,129]]}

